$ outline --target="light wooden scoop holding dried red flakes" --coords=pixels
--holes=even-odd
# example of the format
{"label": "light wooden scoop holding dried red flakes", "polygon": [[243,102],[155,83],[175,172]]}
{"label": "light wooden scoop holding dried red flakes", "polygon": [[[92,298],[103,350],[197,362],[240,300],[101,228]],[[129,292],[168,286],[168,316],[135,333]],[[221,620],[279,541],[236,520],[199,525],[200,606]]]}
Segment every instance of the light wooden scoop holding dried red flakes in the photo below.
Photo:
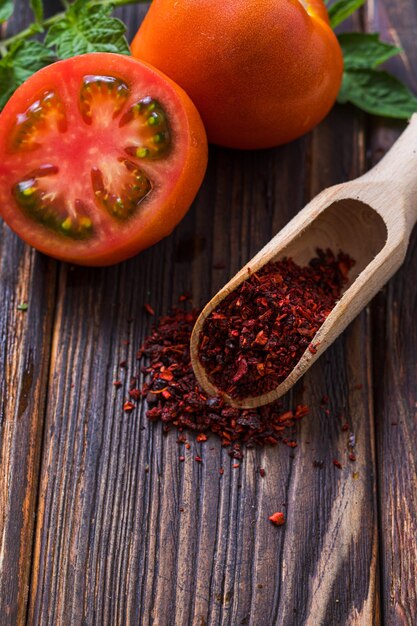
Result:
{"label": "light wooden scoop holding dried red flakes", "polygon": [[[402,264],[417,221],[417,113],[385,157],[363,176],[322,191],[253,257],[203,309],[191,336],[191,361],[200,385],[235,407],[254,408],[286,393],[323,354]],[[324,324],[289,376],[275,389],[241,400],[209,381],[198,357],[204,321],[248,275],[265,263],[292,257],[308,264],[317,248],[343,250],[355,259],[349,282]]]}

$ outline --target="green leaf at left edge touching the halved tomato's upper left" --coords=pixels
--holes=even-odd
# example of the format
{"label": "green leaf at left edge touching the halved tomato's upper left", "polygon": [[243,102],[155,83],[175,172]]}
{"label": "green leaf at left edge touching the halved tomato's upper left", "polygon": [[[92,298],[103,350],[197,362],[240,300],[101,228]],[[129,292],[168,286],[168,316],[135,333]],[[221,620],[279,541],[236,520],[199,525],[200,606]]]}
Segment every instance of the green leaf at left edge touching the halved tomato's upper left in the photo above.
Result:
{"label": "green leaf at left edge touching the halved tomato's upper left", "polygon": [[13,92],[35,72],[55,60],[39,41],[21,40],[0,60],[0,109]]}

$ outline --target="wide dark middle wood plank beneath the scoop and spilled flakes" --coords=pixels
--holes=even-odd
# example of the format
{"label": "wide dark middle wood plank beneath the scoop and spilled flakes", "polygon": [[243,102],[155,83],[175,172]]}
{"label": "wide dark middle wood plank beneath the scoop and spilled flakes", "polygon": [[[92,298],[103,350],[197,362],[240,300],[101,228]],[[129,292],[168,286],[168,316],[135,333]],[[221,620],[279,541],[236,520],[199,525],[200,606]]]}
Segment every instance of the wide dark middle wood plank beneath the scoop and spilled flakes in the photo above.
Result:
{"label": "wide dark middle wood plank beneath the scoop and spilled flakes", "polygon": [[[133,30],[136,9],[124,15]],[[233,468],[214,437],[190,437],[179,463],[174,432],[149,424],[143,407],[122,412],[151,322],[143,304],[163,313],[184,291],[202,304],[312,194],[357,175],[362,157],[350,109],[276,150],[212,148],[170,238],[115,268],[60,266],[29,624],[379,622],[366,314],[287,398],[312,407],[295,451],[247,451]],[[275,510],[286,512],[282,528],[268,521]]]}

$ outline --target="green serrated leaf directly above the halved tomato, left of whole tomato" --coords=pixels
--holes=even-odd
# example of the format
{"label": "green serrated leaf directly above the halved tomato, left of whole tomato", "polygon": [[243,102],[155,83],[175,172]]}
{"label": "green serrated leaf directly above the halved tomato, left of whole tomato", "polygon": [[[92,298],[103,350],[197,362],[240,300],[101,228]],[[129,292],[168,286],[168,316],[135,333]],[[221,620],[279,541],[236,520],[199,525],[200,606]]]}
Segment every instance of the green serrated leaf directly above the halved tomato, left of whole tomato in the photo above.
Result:
{"label": "green serrated leaf directly above the halved tomato, left of whole tomato", "polygon": [[126,27],[111,17],[113,6],[90,4],[76,0],[65,17],[51,26],[45,43],[55,46],[60,59],[86,52],[118,52],[129,54],[124,37]]}

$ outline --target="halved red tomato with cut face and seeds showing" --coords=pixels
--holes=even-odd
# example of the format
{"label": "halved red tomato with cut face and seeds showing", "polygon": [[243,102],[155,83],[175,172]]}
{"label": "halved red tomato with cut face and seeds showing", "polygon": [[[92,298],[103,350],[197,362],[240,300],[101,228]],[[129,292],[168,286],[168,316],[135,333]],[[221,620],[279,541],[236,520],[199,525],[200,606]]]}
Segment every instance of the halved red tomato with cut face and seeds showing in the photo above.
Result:
{"label": "halved red tomato with cut face and seeds showing", "polygon": [[30,245],[81,265],[116,263],[168,235],[207,165],[186,93],[117,54],[37,72],[0,128],[0,214]]}

